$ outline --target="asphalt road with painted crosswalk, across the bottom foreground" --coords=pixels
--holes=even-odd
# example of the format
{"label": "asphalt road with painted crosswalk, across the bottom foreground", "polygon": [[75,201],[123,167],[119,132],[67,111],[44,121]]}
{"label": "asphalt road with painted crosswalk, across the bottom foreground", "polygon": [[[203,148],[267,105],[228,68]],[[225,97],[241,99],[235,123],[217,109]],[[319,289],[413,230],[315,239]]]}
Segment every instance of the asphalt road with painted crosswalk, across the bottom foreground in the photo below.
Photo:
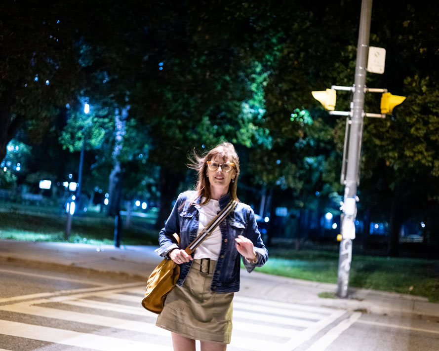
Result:
{"label": "asphalt road with painted crosswalk, across the bottom foreground", "polygon": [[[0,351],[171,351],[140,306],[144,282],[0,265]],[[237,293],[228,351],[437,351],[439,318],[286,304]]]}

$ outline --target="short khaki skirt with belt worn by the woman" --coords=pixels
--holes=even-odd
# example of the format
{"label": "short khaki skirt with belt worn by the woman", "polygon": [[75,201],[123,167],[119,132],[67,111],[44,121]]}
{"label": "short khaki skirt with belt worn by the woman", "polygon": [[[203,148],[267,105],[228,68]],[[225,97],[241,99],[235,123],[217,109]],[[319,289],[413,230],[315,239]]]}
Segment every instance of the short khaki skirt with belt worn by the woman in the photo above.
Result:
{"label": "short khaki skirt with belt worn by the woman", "polygon": [[210,261],[207,274],[200,273],[200,261],[192,262],[183,286],[166,297],[156,325],[190,339],[230,344],[234,293],[211,292],[216,261]]}

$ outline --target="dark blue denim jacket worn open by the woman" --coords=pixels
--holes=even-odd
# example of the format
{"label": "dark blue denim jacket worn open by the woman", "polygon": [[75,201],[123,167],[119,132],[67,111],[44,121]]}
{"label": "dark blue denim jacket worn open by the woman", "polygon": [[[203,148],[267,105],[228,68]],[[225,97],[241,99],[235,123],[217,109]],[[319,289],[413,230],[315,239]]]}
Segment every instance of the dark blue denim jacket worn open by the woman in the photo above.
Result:
{"label": "dark blue denim jacket worn open by the woman", "polygon": [[[167,219],[164,228],[160,231],[160,247],[156,250],[160,256],[167,257],[168,253],[178,248],[171,237],[172,234],[180,234],[180,248],[186,248],[192,240],[197,237],[199,227],[199,209],[200,197],[195,198],[194,191],[188,191],[178,196],[174,208]],[[219,199],[219,206],[222,210],[230,201],[229,194]],[[250,273],[255,267],[261,267],[268,259],[268,251],[261,239],[254,212],[250,206],[239,202],[235,210],[229,214],[219,225],[222,242],[219,258],[213,273],[211,291],[219,293],[229,293],[239,291],[239,272],[240,258],[238,250],[235,247],[235,238],[243,235],[250,239],[254,245],[257,262],[250,263],[244,257],[242,262]],[[194,255],[194,254],[193,254]],[[180,265],[180,277],[177,281],[182,286],[186,276],[191,268],[193,261]]]}

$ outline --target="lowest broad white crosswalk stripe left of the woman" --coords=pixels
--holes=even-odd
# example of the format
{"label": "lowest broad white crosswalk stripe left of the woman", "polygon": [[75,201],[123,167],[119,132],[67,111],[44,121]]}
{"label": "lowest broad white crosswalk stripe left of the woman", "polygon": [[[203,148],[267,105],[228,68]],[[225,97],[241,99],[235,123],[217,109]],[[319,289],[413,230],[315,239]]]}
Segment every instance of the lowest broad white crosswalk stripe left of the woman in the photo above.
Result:
{"label": "lowest broad white crosswalk stripe left of the woman", "polygon": [[[150,343],[5,320],[0,320],[0,330],[2,334],[14,337],[41,340],[97,351],[145,351],[151,348]],[[172,347],[154,345],[154,351],[172,351]]]}

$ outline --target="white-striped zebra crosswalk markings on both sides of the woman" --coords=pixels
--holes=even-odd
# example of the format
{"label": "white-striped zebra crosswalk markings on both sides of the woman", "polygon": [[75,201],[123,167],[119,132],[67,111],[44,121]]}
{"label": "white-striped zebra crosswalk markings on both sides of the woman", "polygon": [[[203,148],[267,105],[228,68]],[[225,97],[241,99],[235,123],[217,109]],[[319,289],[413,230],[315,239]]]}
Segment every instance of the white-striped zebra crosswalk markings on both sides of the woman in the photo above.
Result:
{"label": "white-striped zebra crosswalk markings on both sides of the woman", "polygon": [[[148,342],[131,342],[128,339],[115,338],[97,334],[80,333],[60,328],[38,326],[34,324],[0,321],[0,333],[15,337],[31,338],[45,342],[63,345],[84,347],[94,350],[157,350],[170,351],[170,333],[155,326],[157,315],[144,310],[140,302],[144,291],[143,283],[130,283],[112,286],[111,288],[89,288],[68,291],[69,295],[60,292],[46,294],[44,298],[29,301],[14,302],[0,306],[0,311],[23,313],[38,318],[53,318],[76,323],[86,323],[111,329],[125,330],[135,333],[144,333]],[[131,293],[131,295],[130,295]],[[137,294],[133,296],[132,293]],[[38,294],[34,295],[40,297]],[[29,296],[28,296],[29,297]],[[105,298],[107,301],[98,301],[94,298]],[[22,297],[19,297],[23,299]],[[138,302],[136,306],[124,303]],[[57,307],[41,306],[47,303],[60,303],[87,309],[85,312],[61,310]],[[321,329],[333,323],[347,312],[329,308],[288,304],[277,301],[259,300],[255,298],[236,297],[234,299],[234,333],[228,350],[265,351],[280,350],[292,351],[305,341],[310,340]],[[99,310],[115,312],[114,317],[100,315]],[[83,310],[82,310],[83,311]],[[117,315],[117,313],[122,313]],[[145,321],[131,320],[129,314],[152,317]],[[135,318],[133,318],[135,319]],[[138,317],[137,317],[138,319]],[[155,338],[148,338],[153,335]],[[95,340],[90,343],[89,340]],[[99,340],[99,342],[97,341]],[[154,341],[155,340],[155,341]],[[161,340],[161,342],[159,342]],[[159,345],[154,343],[159,343]],[[0,350],[1,351],[1,350]]]}

